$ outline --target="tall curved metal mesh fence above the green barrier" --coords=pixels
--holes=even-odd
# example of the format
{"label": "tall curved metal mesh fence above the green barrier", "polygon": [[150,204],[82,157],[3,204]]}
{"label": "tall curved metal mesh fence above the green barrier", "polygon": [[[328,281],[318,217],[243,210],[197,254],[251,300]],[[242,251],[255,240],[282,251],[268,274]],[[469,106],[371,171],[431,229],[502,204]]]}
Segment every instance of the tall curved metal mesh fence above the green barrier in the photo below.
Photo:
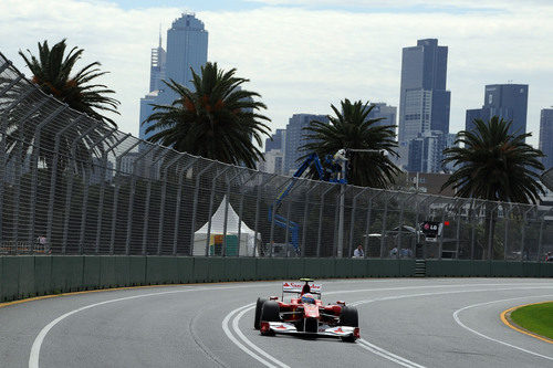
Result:
{"label": "tall curved metal mesh fence above the green barrier", "polygon": [[[290,180],[272,212],[283,224],[269,207]],[[341,189],[180,154],[72,111],[3,55],[0,213],[0,254],[328,257],[361,244],[366,257],[523,261],[553,251],[551,208]],[[426,220],[449,225],[430,241]]]}

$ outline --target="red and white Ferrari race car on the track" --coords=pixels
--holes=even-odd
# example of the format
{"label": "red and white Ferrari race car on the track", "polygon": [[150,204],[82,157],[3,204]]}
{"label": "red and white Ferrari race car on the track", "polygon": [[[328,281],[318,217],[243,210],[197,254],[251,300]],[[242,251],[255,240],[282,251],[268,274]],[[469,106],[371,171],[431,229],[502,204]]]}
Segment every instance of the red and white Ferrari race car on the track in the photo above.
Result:
{"label": "red and white Ferrari race car on the track", "polygon": [[[340,337],[354,343],[359,338],[357,309],[344,302],[323,305],[322,285],[311,278],[304,282],[284,282],[282,297],[258,298],[253,327],[261,335],[302,334],[306,336]],[[290,302],[284,302],[284,294],[295,294]]]}

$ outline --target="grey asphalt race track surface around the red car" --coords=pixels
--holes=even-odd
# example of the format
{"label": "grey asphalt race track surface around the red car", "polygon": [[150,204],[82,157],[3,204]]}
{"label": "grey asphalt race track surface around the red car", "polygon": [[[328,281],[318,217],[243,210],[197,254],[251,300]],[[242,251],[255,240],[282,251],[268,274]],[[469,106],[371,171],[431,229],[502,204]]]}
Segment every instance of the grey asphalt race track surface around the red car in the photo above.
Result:
{"label": "grey asphalt race track surface around the red car", "polygon": [[500,320],[552,301],[551,280],[322,283],[324,303],[357,305],[357,343],[260,336],[253,303],[280,282],[144,287],[1,307],[0,367],[553,367],[553,344]]}

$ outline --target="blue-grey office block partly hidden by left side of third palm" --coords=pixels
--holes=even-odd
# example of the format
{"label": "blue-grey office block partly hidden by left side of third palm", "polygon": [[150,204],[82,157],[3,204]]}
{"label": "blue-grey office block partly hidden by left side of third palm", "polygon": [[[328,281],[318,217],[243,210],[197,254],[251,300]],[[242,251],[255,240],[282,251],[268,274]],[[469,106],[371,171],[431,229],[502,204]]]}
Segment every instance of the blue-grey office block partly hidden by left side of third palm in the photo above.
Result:
{"label": "blue-grey office block partly hidden by left side of third palm", "polygon": [[289,119],[286,125],[286,139],[284,148],[284,167],[283,174],[294,172],[301,162],[298,159],[305,155],[305,151],[301,151],[300,147],[310,143],[305,139],[307,132],[303,128],[310,126],[312,120],[328,123],[328,116],[326,115],[314,115],[314,114],[294,114]]}

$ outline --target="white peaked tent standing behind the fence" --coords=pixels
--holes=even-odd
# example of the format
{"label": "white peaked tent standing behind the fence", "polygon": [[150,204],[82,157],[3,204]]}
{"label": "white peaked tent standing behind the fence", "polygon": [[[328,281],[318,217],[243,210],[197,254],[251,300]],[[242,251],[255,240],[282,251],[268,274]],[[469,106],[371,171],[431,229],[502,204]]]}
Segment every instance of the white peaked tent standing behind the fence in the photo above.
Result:
{"label": "white peaked tent standing behind the fence", "polygon": [[[227,218],[227,236],[229,236],[229,239],[227,239],[227,244],[229,244],[230,238],[236,239],[240,229],[239,254],[250,256],[254,255],[254,253],[257,254],[258,251],[255,246],[255,232],[248,228],[248,225],[243,221],[240,221],[230,202],[228,203],[228,211],[226,211],[227,201],[227,196],[225,196],[221,203],[219,204],[219,208],[211,217],[211,228],[209,231],[209,235],[211,238],[210,243],[212,243],[212,235],[225,234],[225,218]],[[209,221],[206,222],[200,230],[194,233],[194,255],[206,255],[208,228]],[[261,234],[258,233],[258,240],[260,239]]]}

